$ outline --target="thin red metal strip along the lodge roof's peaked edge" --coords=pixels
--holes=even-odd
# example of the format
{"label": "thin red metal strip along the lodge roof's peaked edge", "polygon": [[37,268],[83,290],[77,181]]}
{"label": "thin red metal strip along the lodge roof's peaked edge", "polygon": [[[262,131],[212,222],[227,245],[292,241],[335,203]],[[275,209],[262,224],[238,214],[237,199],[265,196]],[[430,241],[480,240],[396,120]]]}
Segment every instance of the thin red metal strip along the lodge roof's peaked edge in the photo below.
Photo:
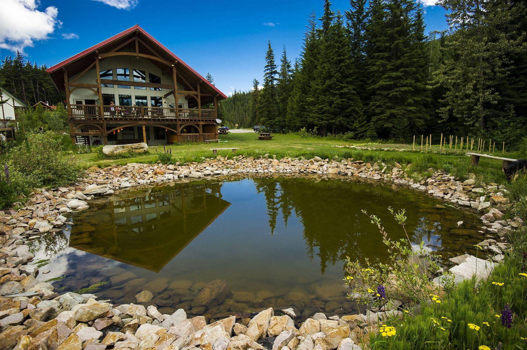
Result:
{"label": "thin red metal strip along the lodge roof's peaked edge", "polygon": [[134,32],[134,31],[139,31],[144,36],[148,37],[154,44],[158,45],[160,48],[163,49],[164,52],[166,52],[167,54],[172,56],[176,61],[178,61],[179,64],[183,65],[189,71],[191,71],[193,74],[198,76],[201,79],[202,82],[208,84],[209,87],[214,89],[214,91],[216,91],[218,94],[220,94],[221,97],[227,98],[227,96],[225,94],[223,94],[216,86],[212,85],[207,79],[205,79],[203,76],[201,76],[198,72],[194,71],[194,69],[192,69],[192,67],[190,67],[188,64],[184,63],[181,58],[179,58],[178,56],[174,55],[174,53],[172,53],[168,48],[164,47],[153,36],[148,34],[147,31],[145,31],[143,28],[141,28],[139,26],[139,24],[136,24],[133,27],[130,27],[130,28],[126,29],[125,31],[119,33],[119,34],[116,34],[116,35],[112,36],[111,38],[108,38],[105,41],[100,42],[99,44],[93,45],[92,47],[85,49],[84,51],[76,54],[75,56],[72,56],[70,58],[65,59],[61,63],[58,63],[58,64],[56,64],[56,65],[54,65],[54,66],[52,66],[50,68],[47,68],[46,72],[51,74],[51,73],[55,72],[57,69],[60,69],[60,68],[66,66],[67,64],[69,64],[71,62],[74,62],[76,59],[79,59],[79,58],[84,57],[84,56],[86,56],[88,54],[91,54],[91,53],[95,52],[97,49],[99,49],[100,47],[103,47],[104,45],[107,45],[107,44],[109,44],[109,43],[111,43],[111,42],[113,42],[113,41],[115,41],[115,40],[117,40],[117,39],[119,39],[119,38],[121,38],[121,37],[123,37],[125,35],[128,35],[128,34]]}

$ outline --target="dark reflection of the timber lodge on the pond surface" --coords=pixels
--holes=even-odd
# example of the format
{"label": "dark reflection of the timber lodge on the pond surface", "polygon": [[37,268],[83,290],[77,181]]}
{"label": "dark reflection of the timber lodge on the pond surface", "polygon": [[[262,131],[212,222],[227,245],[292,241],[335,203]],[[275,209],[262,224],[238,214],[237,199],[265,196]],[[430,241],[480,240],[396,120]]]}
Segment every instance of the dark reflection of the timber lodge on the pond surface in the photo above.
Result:
{"label": "dark reflection of the timber lodge on the pond surface", "polygon": [[70,246],[159,272],[229,205],[221,183],[130,191],[124,198],[90,204],[73,227]]}

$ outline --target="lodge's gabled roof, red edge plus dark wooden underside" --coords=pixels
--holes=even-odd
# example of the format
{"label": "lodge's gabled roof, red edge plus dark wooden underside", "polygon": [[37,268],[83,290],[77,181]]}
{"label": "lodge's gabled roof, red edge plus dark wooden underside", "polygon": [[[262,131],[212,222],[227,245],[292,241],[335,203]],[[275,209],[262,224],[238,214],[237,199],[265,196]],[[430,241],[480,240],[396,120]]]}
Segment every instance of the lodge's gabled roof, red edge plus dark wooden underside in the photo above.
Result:
{"label": "lodge's gabled roof, red edge plus dark wooden underside", "polygon": [[134,33],[144,39],[145,42],[149,42],[149,44],[153,44],[156,48],[159,48],[159,54],[167,57],[170,61],[177,61],[178,64],[176,67],[178,69],[178,75],[182,74],[184,77],[187,78],[187,80],[193,77],[193,79],[191,79],[192,81],[202,81],[204,84],[206,84],[206,86],[204,87],[206,87],[210,93],[218,94],[220,99],[227,98],[227,96],[223,94],[216,86],[209,83],[206,78],[201,76],[198,72],[194,71],[194,69],[192,69],[188,64],[184,63],[181,58],[173,54],[168,48],[164,47],[160,42],[158,42],[154,37],[148,34],[138,24],[106,39],[103,42],[100,42],[99,44],[87,48],[84,51],[70,58],[65,59],[61,63],[58,63],[48,68],[47,72],[50,73],[59,91],[63,91],[64,77],[62,69],[60,68],[66,68],[67,74],[69,76],[73,76],[77,73],[80,73],[83,71],[84,68],[93,63],[93,55],[95,54],[95,51],[103,52],[105,50],[111,50],[112,48],[118,47],[121,42],[125,41],[125,37],[132,37]]}

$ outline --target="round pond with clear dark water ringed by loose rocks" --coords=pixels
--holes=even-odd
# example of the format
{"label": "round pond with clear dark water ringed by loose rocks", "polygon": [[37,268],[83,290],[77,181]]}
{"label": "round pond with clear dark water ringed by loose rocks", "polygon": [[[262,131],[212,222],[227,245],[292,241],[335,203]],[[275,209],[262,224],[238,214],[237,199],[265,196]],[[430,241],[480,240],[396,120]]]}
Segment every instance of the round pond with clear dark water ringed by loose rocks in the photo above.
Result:
{"label": "round pond with clear dark water ringed by loose rocks", "polygon": [[153,299],[145,305],[166,314],[184,308],[218,318],[281,306],[349,314],[357,309],[345,297],[346,257],[387,256],[362,211],[378,215],[390,238],[405,237],[389,206],[406,209],[413,243],[424,241],[444,263],[475,254],[473,245],[487,238],[476,213],[394,184],[212,178],[96,199],[73,215],[71,231],[36,240],[35,259],[50,259],[41,271],[51,272],[39,278],[62,292],[136,303],[146,290]]}

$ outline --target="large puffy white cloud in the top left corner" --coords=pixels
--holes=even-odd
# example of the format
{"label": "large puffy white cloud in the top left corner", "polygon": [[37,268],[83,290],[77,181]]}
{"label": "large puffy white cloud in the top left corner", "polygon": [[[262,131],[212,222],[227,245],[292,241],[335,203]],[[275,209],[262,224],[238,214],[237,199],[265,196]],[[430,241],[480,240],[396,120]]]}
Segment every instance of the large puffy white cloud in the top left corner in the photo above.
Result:
{"label": "large puffy white cloud in the top left corner", "polygon": [[[34,41],[48,39],[55,26],[60,28],[55,6],[38,11],[37,0],[3,0],[0,4],[0,48],[11,51],[33,46]],[[25,53],[24,53],[25,54]]]}

